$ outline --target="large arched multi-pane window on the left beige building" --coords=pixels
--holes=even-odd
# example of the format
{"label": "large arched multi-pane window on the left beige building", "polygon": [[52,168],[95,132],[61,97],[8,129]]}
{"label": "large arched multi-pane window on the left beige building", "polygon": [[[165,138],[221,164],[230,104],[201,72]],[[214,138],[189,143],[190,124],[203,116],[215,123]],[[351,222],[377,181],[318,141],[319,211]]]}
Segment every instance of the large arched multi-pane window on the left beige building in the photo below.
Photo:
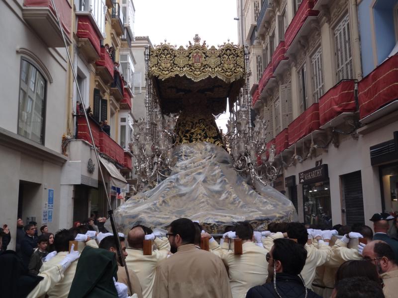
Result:
{"label": "large arched multi-pane window on the left beige building", "polygon": [[[28,79],[29,78],[29,79]],[[28,61],[21,60],[18,134],[44,144],[46,80]]]}

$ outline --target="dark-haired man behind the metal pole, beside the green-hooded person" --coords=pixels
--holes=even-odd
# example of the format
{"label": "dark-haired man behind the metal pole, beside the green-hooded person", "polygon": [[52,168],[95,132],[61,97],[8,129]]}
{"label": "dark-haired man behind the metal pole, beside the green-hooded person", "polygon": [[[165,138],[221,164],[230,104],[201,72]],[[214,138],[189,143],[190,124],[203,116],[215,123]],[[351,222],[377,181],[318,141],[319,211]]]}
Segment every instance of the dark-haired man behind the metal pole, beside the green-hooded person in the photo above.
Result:
{"label": "dark-haired man behind the metal pole, beside the green-hooded person", "polygon": [[[119,258],[117,257],[118,251],[117,251],[116,241],[117,241],[117,239],[115,236],[113,236],[113,235],[106,236],[105,238],[103,238],[101,240],[100,248],[109,250],[109,251],[115,253],[115,258],[117,260],[117,281],[119,283],[125,284],[128,287],[128,280],[130,279],[131,290],[133,291],[133,293],[131,293],[130,289],[128,289],[128,296],[137,294],[138,298],[142,298],[142,289],[141,289],[141,285],[140,285],[137,275],[130,269],[127,269],[128,277],[129,277],[129,279],[128,279],[127,274],[126,274],[126,269],[124,267],[120,266]],[[123,251],[123,257],[126,258],[127,252],[126,252],[126,244],[124,243],[124,237],[119,237],[119,241],[120,241],[121,249]]]}

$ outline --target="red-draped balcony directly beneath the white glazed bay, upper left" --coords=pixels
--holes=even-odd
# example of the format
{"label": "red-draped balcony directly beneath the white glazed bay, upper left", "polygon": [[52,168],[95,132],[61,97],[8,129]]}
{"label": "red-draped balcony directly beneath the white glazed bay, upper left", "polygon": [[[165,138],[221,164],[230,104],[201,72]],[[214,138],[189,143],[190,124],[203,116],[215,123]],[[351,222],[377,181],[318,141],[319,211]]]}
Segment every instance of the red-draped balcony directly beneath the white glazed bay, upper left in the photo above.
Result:
{"label": "red-draped balcony directly beneath the white glazed bay, upper left", "polygon": [[83,56],[88,63],[94,63],[100,59],[100,36],[94,29],[90,18],[86,15],[78,17],[78,28],[76,36],[79,38],[77,47],[79,54]]}

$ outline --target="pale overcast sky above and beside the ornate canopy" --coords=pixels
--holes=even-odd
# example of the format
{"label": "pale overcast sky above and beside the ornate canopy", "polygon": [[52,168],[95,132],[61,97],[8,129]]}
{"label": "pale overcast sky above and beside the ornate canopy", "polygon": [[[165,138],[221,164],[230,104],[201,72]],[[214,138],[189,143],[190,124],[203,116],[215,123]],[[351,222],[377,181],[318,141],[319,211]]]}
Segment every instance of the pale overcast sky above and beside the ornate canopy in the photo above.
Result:
{"label": "pale overcast sky above and beside the ornate canopy", "polygon": [[[236,0],[133,0],[135,36],[149,36],[153,45],[167,42],[186,46],[199,34],[201,42],[217,47],[238,43]],[[225,130],[227,115],[217,125]]]}

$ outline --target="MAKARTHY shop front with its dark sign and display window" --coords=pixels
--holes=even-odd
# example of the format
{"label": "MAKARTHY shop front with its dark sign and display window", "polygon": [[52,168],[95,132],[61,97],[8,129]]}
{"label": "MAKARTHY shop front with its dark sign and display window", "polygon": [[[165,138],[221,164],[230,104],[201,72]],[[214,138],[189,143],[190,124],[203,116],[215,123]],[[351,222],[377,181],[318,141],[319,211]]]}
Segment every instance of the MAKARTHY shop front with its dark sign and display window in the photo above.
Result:
{"label": "MAKARTHY shop front with its dark sign and display window", "polygon": [[300,172],[298,178],[302,184],[304,223],[330,228],[332,213],[327,164]]}

